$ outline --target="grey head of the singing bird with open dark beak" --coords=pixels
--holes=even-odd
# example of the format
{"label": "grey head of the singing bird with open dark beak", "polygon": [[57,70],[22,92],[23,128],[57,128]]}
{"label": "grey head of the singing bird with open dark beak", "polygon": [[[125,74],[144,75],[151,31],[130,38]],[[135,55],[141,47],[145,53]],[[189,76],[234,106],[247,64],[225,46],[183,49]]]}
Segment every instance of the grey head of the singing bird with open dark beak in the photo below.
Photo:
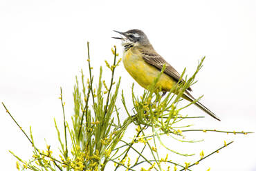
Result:
{"label": "grey head of the singing bird with open dark beak", "polygon": [[[118,32],[113,30],[114,32]],[[146,34],[138,29],[128,30],[127,32],[118,32],[122,34],[123,37],[112,37],[114,39],[121,39],[122,46],[142,46],[149,45],[149,39],[147,39]]]}

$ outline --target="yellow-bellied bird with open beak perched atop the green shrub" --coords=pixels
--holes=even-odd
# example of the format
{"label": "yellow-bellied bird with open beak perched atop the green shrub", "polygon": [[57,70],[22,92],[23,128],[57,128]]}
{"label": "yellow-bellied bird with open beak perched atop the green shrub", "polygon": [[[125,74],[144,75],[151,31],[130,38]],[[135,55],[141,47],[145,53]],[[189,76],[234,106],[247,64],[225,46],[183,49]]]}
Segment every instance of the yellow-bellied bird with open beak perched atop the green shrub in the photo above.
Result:
{"label": "yellow-bellied bird with open beak perched atop the green shrub", "polygon": [[[145,89],[149,88],[153,81],[158,77],[163,66],[165,66],[165,70],[156,83],[156,87],[161,87],[163,94],[170,91],[179,81],[183,83],[185,82],[181,79],[179,72],[177,72],[170,63],[167,63],[167,61],[154,50],[147,35],[142,30],[132,29],[127,32],[113,31],[121,34],[121,37],[112,38],[120,39],[122,41],[121,45],[124,47],[122,62],[125,69],[140,86]],[[190,102],[194,101],[194,97],[190,94],[191,91],[192,89],[190,87],[185,90],[182,95],[183,99]],[[221,121],[216,114],[199,101],[196,101],[194,104],[214,119]]]}

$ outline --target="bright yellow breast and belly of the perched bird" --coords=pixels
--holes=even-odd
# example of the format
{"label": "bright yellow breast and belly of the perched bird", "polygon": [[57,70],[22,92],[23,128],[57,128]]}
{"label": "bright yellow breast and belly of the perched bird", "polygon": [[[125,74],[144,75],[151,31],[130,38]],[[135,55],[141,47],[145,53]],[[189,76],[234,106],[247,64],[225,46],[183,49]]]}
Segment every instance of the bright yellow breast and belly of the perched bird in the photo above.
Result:
{"label": "bright yellow breast and belly of the perched bird", "polygon": [[[126,52],[124,52],[122,61],[124,63],[125,69],[131,77],[133,77],[140,86],[147,89],[156,79],[160,70],[145,62],[142,54],[134,48],[130,48]],[[162,74],[158,83],[156,83],[157,87],[161,87],[164,91],[170,91],[172,86],[175,85],[174,79],[169,77],[167,74]]]}

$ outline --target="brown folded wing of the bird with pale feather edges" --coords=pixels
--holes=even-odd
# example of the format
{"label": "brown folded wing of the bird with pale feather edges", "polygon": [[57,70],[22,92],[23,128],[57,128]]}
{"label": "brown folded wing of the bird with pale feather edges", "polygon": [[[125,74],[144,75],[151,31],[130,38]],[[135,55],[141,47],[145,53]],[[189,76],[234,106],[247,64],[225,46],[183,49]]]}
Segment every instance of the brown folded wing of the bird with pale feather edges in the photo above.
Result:
{"label": "brown folded wing of the bird with pale feather edges", "polygon": [[[140,52],[143,54],[143,59],[151,64],[152,66],[158,68],[158,70],[162,70],[163,65],[165,64],[165,74],[169,75],[174,79],[175,81],[179,81],[181,78],[181,75],[179,72],[177,72],[163,57],[161,57],[153,48],[147,48],[147,50],[139,49]],[[181,79],[182,82],[185,82],[183,79]],[[188,88],[188,90],[192,91],[191,88]]]}

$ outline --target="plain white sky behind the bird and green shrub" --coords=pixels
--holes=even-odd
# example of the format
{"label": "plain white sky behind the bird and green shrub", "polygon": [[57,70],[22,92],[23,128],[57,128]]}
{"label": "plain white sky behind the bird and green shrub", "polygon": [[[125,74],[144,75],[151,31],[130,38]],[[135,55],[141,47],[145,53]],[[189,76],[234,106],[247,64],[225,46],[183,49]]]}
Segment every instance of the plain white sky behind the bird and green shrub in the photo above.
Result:
{"label": "plain white sky behind the bird and green shrub", "polygon": [[[67,116],[73,114],[75,76],[86,68],[86,42],[98,77],[104,60],[113,60],[111,48],[120,42],[112,30],[140,29],[154,49],[180,73],[191,75],[206,57],[192,86],[193,94],[214,111],[211,117],[193,121],[197,128],[256,131],[256,2],[246,1],[0,1],[0,101],[29,132],[36,143],[55,144],[53,118],[62,121],[60,87]],[[106,70],[106,71],[105,71]],[[104,67],[104,79],[110,78]],[[125,68],[117,68],[127,98],[135,82]],[[140,96],[143,88],[135,84]],[[120,102],[119,102],[120,103]],[[130,108],[131,107],[131,104]],[[121,106],[121,103],[120,103]],[[187,110],[186,110],[187,111]],[[192,106],[188,114],[204,115]],[[125,114],[123,116],[126,117]],[[0,108],[1,170],[15,170],[11,150],[23,159],[31,156],[31,145]],[[191,135],[190,135],[191,136]],[[219,154],[205,159],[195,170],[256,170],[256,136],[192,134],[203,143],[179,146],[196,152],[211,152],[234,141]]]}

